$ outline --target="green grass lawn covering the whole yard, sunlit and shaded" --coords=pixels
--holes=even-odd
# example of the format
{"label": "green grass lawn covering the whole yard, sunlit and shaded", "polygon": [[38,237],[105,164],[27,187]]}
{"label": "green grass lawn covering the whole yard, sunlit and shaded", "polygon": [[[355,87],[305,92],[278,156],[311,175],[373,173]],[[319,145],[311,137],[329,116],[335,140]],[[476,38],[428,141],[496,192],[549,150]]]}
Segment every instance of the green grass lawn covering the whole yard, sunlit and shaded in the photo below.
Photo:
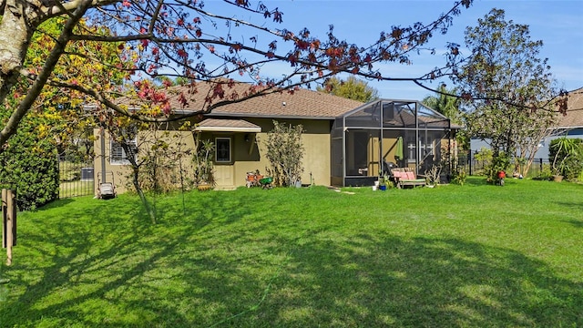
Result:
{"label": "green grass lawn covering the whole yard, sunlit and shaded", "polygon": [[19,213],[0,326],[583,326],[583,185],[152,200]]}

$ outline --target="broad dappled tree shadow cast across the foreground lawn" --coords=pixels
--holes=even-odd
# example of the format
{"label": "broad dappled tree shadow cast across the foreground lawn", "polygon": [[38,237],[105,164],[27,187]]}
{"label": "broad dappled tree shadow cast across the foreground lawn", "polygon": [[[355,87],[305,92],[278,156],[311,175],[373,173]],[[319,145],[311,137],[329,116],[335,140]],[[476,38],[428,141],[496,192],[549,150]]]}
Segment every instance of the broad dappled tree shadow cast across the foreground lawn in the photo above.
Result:
{"label": "broad dappled tree shadow cast across the foreground lawn", "polygon": [[26,254],[10,269],[14,297],[0,307],[0,323],[583,323],[583,285],[517,251],[386,231],[341,232],[333,220],[286,217],[286,200],[268,195],[159,199],[157,225],[148,223],[138,200],[125,198],[78,204],[67,209],[68,220],[46,211],[26,226],[19,245]]}

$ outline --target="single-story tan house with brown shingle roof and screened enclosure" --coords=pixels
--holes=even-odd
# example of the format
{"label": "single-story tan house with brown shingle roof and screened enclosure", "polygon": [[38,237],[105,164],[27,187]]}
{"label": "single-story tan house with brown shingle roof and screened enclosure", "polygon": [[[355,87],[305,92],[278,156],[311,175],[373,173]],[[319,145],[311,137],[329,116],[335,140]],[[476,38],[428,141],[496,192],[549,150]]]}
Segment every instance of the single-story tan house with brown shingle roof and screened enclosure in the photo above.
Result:
{"label": "single-story tan house with brown shingle roof and screened enclosure", "polygon": [[[207,94],[203,87],[190,93],[186,104],[178,96],[172,100],[174,112],[189,113],[202,103]],[[178,95],[180,88],[171,91]],[[244,186],[247,172],[264,173],[270,167],[264,140],[273,120],[301,124],[304,129],[303,184],[372,185],[385,162],[424,173],[452,154],[455,136],[449,119],[414,100],[378,99],[363,104],[309,89],[253,97],[191,119],[190,130],[170,124],[163,138],[179,140],[176,143],[183,150],[194,148],[196,133],[214,142],[217,189]],[[123,191],[127,185],[123,177],[129,172],[125,152],[107,134],[100,136],[98,129],[95,134],[96,175],[101,172],[107,177],[113,172],[118,191]],[[137,138],[148,137],[138,134]]]}

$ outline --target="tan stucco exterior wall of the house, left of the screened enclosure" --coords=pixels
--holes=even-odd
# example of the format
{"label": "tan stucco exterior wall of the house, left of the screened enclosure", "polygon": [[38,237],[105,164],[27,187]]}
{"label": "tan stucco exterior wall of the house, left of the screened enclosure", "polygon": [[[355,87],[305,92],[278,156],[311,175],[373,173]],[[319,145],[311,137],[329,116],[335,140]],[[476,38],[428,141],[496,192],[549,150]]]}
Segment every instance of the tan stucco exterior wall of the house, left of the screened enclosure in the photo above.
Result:
{"label": "tan stucco exterior wall of the house, left of the screened enclosure", "polygon": [[[267,118],[246,118],[247,121],[261,127],[261,133],[244,133],[244,132],[204,132],[201,138],[230,138],[231,139],[231,162],[230,163],[216,163],[215,175],[226,174],[232,177],[229,179],[221,179],[216,177],[217,189],[233,189],[245,185],[245,177],[247,172],[260,170],[261,174],[266,173],[266,168],[271,165],[265,157],[266,147],[265,140],[267,132],[273,128],[272,119]],[[311,183],[311,173],[313,183],[317,185],[330,185],[330,156],[331,156],[331,141],[330,141],[330,122],[327,120],[305,120],[305,119],[285,119],[279,120],[293,125],[302,124],[304,133],[302,135],[302,142],[304,147],[302,183]],[[94,130],[97,137],[95,141],[95,172],[101,175],[102,172],[102,156],[105,154],[105,170],[107,171],[107,178],[110,177],[110,172],[114,175],[114,182],[119,193],[127,191],[128,174],[130,173],[130,166],[111,164],[110,156],[110,141],[106,134],[105,149],[101,151],[101,138],[99,129]],[[182,143],[186,145],[186,149],[194,149],[194,139],[192,134],[188,131],[169,131],[169,136],[164,137],[169,144],[173,144],[172,140],[176,136]],[[138,135],[138,145],[148,138],[146,134],[140,133]],[[246,140],[248,138],[249,140]],[[191,156],[182,159],[184,162],[183,168],[189,165],[189,172],[191,172]],[[188,161],[188,163],[187,163]],[[98,184],[96,183],[96,193]],[[131,187],[130,187],[131,188]]]}

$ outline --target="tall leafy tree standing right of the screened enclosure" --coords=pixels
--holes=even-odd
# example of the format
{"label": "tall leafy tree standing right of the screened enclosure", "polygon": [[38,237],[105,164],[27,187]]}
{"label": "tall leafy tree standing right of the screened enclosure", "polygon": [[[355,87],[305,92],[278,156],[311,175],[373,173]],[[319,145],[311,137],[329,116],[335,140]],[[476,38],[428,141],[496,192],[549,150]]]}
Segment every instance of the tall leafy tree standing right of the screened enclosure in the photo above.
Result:
{"label": "tall leafy tree standing right of the screened enclosure", "polygon": [[[504,10],[492,9],[465,30],[473,54],[453,76],[465,100],[465,126],[472,137],[490,142],[493,168],[525,159],[526,144],[536,146],[541,131],[553,124],[557,90],[547,59],[538,57],[542,41],[531,40],[528,26],[506,21]],[[471,101],[470,101],[471,100]]]}

